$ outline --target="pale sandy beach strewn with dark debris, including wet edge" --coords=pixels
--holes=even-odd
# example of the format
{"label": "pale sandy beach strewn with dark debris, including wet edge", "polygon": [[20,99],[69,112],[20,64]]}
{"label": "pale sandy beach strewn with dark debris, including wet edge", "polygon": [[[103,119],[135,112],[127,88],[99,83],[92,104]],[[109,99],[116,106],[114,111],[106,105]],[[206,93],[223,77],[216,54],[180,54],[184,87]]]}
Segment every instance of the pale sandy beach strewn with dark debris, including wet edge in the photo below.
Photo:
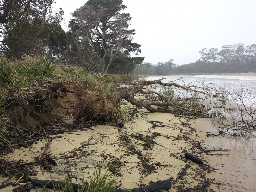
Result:
{"label": "pale sandy beach strewn with dark debris, including wet edge", "polygon": [[[137,81],[120,86],[128,87]],[[140,97],[138,94],[136,97]],[[135,106],[127,101],[129,112]],[[72,123],[66,117],[64,123]],[[174,191],[256,191],[256,141],[231,139],[218,135],[210,119],[189,119],[169,113],[151,113],[144,108],[129,115],[122,128],[111,124],[97,125],[92,129],[52,136],[49,155],[58,159],[52,170],[41,166],[30,167],[30,177],[42,180],[70,177],[79,183],[84,175],[90,179],[101,165],[104,172],[111,165],[110,178],[116,174],[119,188],[136,188],[138,185],[174,177]],[[214,133],[218,136],[206,136]],[[45,140],[30,148],[40,152]],[[207,149],[217,150],[210,153]],[[221,151],[225,150],[225,151]],[[193,153],[203,164],[188,160],[184,153]],[[28,148],[14,149],[1,158],[8,161],[33,161],[38,153]],[[72,157],[69,157],[72,156]],[[6,177],[0,176],[0,180]],[[17,182],[19,183],[19,181]],[[11,191],[14,187],[0,189]],[[37,187],[31,191],[43,191]]]}

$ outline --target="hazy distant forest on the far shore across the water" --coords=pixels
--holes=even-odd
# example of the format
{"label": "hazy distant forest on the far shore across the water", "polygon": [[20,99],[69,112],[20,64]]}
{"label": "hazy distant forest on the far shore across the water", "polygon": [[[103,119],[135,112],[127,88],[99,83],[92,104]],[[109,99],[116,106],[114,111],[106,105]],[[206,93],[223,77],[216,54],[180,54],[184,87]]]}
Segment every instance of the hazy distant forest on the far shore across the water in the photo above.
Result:
{"label": "hazy distant forest on the far shore across the water", "polygon": [[167,75],[256,71],[256,44],[224,45],[221,51],[216,48],[204,48],[199,53],[201,58],[193,63],[176,65],[173,59],[157,64],[143,63],[137,65],[134,72],[142,75]]}

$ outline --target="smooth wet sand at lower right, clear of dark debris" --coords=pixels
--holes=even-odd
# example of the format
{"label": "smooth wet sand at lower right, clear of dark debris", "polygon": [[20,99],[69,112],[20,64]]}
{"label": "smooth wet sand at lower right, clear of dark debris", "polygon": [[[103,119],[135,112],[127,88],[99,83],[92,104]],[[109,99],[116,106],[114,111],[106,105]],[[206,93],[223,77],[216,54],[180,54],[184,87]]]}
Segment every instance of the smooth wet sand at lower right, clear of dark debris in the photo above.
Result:
{"label": "smooth wet sand at lower right, clear of dark debris", "polygon": [[[191,121],[197,125],[197,131],[206,131],[217,134],[216,128],[210,120],[196,119]],[[238,191],[256,191],[256,139],[244,140],[242,138],[232,139],[222,135],[218,137],[205,137],[206,133],[199,132],[204,138],[204,146],[208,149],[228,149],[231,152],[216,152],[229,155],[205,155],[210,165],[218,167],[219,170],[211,173],[216,178],[216,183],[223,183],[226,186],[213,185],[216,191],[226,191],[227,189]],[[219,190],[218,187],[219,186]],[[224,187],[224,188],[222,188]],[[221,190],[222,189],[222,190]]]}

